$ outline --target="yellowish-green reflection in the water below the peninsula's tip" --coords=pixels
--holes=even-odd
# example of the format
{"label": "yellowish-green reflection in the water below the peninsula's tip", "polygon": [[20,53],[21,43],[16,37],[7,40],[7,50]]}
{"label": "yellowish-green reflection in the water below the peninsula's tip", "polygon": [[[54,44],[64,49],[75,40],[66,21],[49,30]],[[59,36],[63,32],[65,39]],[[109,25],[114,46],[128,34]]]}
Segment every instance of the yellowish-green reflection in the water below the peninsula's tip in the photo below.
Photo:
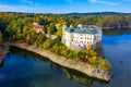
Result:
{"label": "yellowish-green reflection in the water below the peninsula's tip", "polygon": [[99,86],[108,84],[108,82],[100,80],[94,77],[86,76],[82,73],[79,73],[76,71],[70,70],[70,69],[63,69],[64,74],[67,75],[68,78],[74,79],[87,87],[92,87],[94,83],[98,83]]}

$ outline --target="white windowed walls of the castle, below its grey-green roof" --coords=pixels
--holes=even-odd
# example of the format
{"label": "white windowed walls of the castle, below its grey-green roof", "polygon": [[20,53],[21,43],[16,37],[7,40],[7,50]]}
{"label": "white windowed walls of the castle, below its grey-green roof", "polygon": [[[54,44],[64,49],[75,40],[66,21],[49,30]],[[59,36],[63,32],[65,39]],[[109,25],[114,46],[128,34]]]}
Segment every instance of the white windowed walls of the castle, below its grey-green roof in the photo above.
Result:
{"label": "white windowed walls of the castle, below its grey-green roof", "polygon": [[79,33],[68,33],[63,30],[62,42],[72,49],[84,50],[88,45],[96,45],[102,41],[102,32],[97,34],[79,34]]}

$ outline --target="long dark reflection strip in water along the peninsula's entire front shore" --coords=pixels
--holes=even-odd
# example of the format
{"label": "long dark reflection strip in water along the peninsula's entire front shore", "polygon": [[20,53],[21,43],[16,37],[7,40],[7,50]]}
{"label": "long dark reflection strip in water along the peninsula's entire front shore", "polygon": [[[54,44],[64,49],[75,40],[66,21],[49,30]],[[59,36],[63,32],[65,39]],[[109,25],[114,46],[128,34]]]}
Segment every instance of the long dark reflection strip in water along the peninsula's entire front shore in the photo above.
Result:
{"label": "long dark reflection strip in water along the peninsula's entire front shore", "polygon": [[[29,52],[26,50],[22,50],[22,49],[15,48],[15,47],[11,47],[10,51],[11,51],[11,53],[17,54],[20,57],[23,55],[25,59],[33,57],[34,61],[40,60],[43,62],[49,62],[48,59],[46,59],[46,58],[43,58],[36,53],[33,53],[33,52]],[[99,80],[97,78],[86,76],[78,71],[62,67],[62,66],[51,63],[51,62],[50,62],[50,70],[56,70],[56,71],[62,70],[62,72],[63,72],[62,75],[64,74],[69,79],[71,79],[71,80],[73,79],[73,80],[82,84],[82,87],[83,86],[93,87],[94,83],[97,83],[97,85],[99,85],[99,86],[108,84],[105,80]],[[58,73],[55,75],[58,75]]]}

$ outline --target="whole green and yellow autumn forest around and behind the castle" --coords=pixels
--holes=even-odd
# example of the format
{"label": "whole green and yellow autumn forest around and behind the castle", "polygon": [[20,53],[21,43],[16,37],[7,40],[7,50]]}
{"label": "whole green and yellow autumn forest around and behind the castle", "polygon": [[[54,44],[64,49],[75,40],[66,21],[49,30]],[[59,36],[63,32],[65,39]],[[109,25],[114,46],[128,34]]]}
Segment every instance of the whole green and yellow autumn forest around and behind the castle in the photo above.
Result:
{"label": "whole green and yellow autumn forest around and behind the castle", "polygon": [[[56,35],[57,39],[47,38],[45,34],[33,29],[33,22],[43,25],[45,34]],[[55,27],[60,24],[59,29]],[[98,57],[95,49],[73,51],[62,45],[62,25],[96,25],[99,27],[130,26],[131,15],[62,15],[62,14],[38,14],[38,13],[3,13],[0,12],[0,45],[3,40],[27,42],[36,47],[50,50],[74,61],[87,62],[95,66],[109,70],[111,65]],[[106,32],[105,32],[106,33]]]}

